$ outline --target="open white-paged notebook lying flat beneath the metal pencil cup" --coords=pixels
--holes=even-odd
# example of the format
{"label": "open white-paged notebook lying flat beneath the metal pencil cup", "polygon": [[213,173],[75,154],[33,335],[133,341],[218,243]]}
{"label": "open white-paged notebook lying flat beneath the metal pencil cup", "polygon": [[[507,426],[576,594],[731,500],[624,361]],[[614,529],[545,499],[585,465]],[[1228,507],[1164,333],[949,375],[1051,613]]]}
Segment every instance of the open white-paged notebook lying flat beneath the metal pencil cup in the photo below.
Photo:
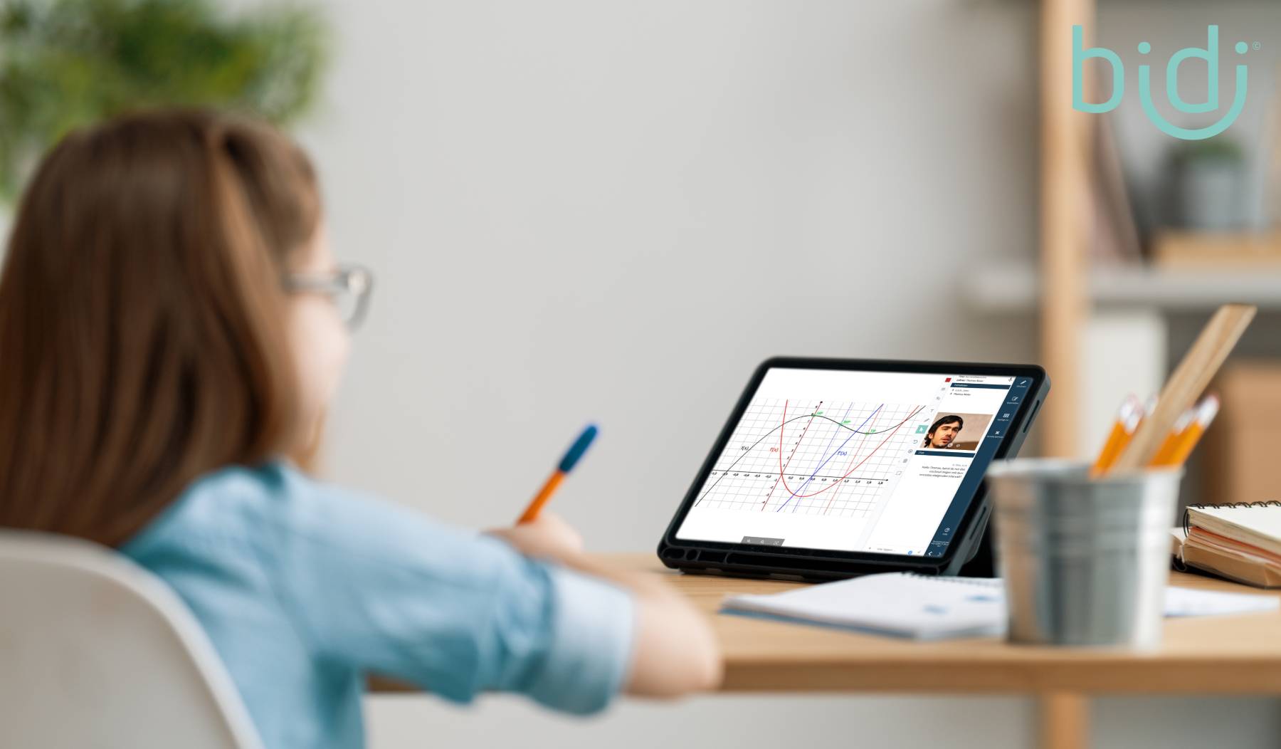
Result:
{"label": "open white-paged notebook lying flat beneath the metal pencil cup", "polygon": [[[1167,617],[1269,612],[1275,595],[1166,589]],[[981,637],[1006,628],[1000,580],[926,577],[910,572],[867,575],[769,595],[735,595],[722,613],[857,630],[913,640]]]}

